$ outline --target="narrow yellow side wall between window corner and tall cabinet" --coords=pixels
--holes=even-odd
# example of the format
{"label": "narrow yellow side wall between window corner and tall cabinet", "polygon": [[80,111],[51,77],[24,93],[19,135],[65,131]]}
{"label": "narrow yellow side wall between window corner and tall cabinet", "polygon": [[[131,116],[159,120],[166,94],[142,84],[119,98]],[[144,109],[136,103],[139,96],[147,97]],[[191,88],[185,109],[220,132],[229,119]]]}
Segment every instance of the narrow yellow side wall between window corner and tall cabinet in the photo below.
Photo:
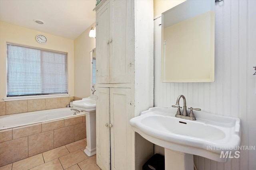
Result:
{"label": "narrow yellow side wall between window corner and tall cabinet", "polygon": [[96,47],[95,38],[89,37],[91,27],[94,28],[95,23],[74,40],[74,96],[79,98],[86,98],[91,94],[90,51]]}

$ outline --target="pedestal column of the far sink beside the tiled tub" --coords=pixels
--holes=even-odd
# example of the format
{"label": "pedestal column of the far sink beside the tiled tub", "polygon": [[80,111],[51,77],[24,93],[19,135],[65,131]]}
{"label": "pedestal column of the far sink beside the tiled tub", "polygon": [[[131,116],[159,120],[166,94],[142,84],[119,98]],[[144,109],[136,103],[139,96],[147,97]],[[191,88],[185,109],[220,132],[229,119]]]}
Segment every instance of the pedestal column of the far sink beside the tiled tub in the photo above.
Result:
{"label": "pedestal column of the far sink beside the tiled tub", "polygon": [[86,141],[84,153],[88,156],[96,154],[96,110],[86,111]]}

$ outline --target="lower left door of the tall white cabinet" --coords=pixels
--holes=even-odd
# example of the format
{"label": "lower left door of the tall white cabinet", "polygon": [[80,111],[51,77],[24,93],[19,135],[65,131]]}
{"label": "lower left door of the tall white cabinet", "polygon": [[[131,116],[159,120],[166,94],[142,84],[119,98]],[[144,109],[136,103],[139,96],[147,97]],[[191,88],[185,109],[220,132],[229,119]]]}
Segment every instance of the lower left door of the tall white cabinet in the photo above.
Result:
{"label": "lower left door of the tall white cabinet", "polygon": [[97,164],[102,170],[110,170],[109,88],[98,88],[97,91]]}

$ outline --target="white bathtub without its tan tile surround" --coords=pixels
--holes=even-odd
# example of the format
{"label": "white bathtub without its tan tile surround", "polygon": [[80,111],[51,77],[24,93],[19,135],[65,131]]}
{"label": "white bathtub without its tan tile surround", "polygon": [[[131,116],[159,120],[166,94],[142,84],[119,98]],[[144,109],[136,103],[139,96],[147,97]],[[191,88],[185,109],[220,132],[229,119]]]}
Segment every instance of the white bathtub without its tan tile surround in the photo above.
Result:
{"label": "white bathtub without its tan tile surround", "polygon": [[0,130],[77,115],[85,115],[83,112],[80,112],[77,115],[73,115],[74,111],[70,110],[70,108],[72,107],[31,111],[12,115],[2,115],[0,116]]}

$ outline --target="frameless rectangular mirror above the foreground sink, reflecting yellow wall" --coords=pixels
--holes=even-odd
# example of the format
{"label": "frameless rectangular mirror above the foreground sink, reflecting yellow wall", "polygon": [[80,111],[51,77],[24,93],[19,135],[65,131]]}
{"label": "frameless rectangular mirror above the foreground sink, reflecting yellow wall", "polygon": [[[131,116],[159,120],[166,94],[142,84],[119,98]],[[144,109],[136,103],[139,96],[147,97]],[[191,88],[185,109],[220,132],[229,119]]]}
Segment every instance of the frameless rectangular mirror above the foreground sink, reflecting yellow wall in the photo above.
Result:
{"label": "frameless rectangular mirror above the foreground sink, reflecting yellow wall", "polygon": [[214,82],[214,0],[162,13],[162,82]]}

